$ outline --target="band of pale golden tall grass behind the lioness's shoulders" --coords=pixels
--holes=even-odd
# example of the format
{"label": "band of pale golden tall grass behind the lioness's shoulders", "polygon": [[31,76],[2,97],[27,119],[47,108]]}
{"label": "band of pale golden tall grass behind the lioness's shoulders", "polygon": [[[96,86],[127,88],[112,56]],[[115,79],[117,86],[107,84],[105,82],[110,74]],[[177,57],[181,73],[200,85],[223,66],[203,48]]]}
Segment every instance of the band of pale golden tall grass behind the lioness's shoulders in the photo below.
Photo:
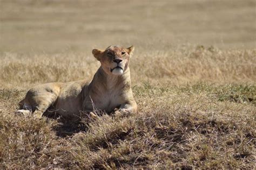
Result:
{"label": "band of pale golden tall grass behind the lioness's shoulders", "polygon": [[[134,85],[219,83],[256,80],[256,50],[219,50],[203,46],[137,51],[130,68]],[[91,80],[99,67],[92,54],[60,53],[24,55],[3,53],[0,65],[2,88],[29,88],[44,82]]]}

